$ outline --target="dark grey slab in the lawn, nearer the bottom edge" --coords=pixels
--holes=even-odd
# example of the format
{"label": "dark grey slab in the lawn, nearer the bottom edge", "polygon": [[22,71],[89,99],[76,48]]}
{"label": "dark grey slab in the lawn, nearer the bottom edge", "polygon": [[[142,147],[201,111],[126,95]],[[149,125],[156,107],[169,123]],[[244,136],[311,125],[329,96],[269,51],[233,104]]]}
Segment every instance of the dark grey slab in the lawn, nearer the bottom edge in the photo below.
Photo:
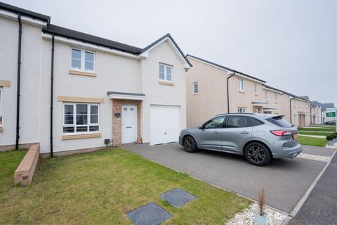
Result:
{"label": "dark grey slab in the lawn, nearer the bottom edge", "polygon": [[131,219],[135,225],[157,225],[172,217],[169,212],[156,203],[149,203],[138,207],[137,209],[128,212],[127,215],[128,219]]}

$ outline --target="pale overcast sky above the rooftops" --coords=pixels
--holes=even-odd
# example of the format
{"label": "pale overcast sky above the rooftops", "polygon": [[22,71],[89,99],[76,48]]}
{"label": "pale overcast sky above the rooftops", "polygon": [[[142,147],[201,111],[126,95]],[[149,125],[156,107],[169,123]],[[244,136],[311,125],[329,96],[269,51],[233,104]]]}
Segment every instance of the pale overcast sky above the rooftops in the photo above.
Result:
{"label": "pale overcast sky above the rooftops", "polygon": [[337,103],[337,1],[4,0],[138,47],[170,32],[184,53],[312,101]]}

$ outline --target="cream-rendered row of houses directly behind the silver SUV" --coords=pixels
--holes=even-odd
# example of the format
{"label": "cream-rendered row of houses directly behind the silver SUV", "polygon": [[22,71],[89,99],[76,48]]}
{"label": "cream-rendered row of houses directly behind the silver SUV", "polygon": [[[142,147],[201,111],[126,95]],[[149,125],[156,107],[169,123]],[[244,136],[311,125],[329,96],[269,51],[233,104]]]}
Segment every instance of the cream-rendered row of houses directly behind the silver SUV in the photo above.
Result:
{"label": "cream-rendered row of houses directly behind the silver SUV", "polygon": [[195,127],[220,113],[284,115],[292,124],[309,124],[309,101],[275,89],[265,81],[197,56],[187,72],[187,127]]}

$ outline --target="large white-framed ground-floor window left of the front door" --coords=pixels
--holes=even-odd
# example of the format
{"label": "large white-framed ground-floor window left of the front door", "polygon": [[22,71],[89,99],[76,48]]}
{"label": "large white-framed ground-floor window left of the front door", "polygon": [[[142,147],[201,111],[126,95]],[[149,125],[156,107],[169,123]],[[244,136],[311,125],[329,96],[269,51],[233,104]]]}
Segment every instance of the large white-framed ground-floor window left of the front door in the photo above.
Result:
{"label": "large white-framed ground-floor window left of the front door", "polygon": [[99,104],[63,104],[63,134],[91,134],[99,131]]}

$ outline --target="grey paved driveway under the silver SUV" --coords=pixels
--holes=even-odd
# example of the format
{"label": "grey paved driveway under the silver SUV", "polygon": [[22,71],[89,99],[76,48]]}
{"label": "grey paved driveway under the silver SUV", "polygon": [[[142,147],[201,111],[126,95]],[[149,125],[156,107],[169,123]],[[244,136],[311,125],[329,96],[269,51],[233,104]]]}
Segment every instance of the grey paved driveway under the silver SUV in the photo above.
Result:
{"label": "grey paved driveway under the silver SUV", "polygon": [[[124,148],[254,200],[258,200],[258,191],[264,187],[267,205],[286,213],[291,212],[326,165],[318,160],[296,158],[274,160],[267,167],[256,167],[239,155],[208,150],[186,153],[178,143]],[[303,146],[303,152],[331,156],[333,150]]]}

